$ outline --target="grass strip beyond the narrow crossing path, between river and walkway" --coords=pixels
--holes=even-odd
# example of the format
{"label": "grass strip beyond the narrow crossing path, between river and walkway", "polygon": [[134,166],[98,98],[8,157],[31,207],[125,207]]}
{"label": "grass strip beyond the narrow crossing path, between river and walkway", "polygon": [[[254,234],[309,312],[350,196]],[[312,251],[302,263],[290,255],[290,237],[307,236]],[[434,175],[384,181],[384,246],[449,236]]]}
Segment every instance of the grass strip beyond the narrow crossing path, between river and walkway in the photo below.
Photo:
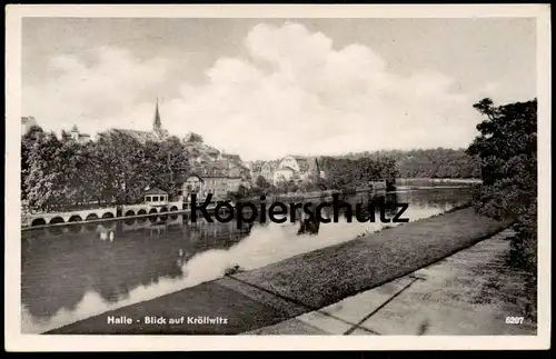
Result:
{"label": "grass strip beyond the narrow crossing path, between river and walkway", "polygon": [[466,208],[234,277],[320,308],[431,265],[507,226]]}

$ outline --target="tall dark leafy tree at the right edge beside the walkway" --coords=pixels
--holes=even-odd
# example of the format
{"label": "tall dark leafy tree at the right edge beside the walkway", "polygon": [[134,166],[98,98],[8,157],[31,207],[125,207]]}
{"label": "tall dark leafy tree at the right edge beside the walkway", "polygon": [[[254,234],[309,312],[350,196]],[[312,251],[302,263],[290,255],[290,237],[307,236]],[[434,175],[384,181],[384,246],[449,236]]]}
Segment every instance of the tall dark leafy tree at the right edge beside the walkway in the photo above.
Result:
{"label": "tall dark leafy tree at the right edge beside the walkway", "polygon": [[484,99],[474,107],[487,117],[467,149],[481,160],[475,207],[485,216],[516,222],[514,251],[520,265],[536,270],[537,100],[495,107]]}

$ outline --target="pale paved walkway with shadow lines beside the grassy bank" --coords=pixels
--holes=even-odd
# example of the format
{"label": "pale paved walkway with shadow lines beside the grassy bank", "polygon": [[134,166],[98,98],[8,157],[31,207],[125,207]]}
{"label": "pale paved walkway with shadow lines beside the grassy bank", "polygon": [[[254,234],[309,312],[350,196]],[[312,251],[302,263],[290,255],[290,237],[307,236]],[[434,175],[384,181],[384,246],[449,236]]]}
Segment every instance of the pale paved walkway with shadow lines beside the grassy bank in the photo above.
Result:
{"label": "pale paved walkway with shadow lines beside the grassy bank", "polygon": [[526,275],[504,263],[505,230],[445,260],[317,311],[244,335],[536,335]]}

